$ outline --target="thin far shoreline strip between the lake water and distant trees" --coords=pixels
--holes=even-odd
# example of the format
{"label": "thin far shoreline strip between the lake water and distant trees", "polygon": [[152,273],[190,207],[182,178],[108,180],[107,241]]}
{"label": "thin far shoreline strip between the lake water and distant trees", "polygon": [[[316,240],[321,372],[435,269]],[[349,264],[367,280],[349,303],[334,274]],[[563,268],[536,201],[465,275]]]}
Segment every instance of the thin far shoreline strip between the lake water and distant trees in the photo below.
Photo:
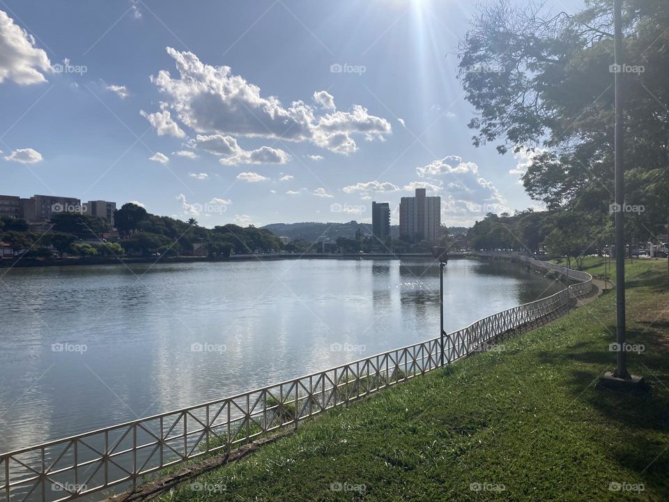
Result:
{"label": "thin far shoreline strip between the lake water and distant trees", "polygon": [[[451,253],[449,258],[457,259],[473,256],[470,253]],[[232,254],[227,258],[210,257],[84,257],[84,258],[59,258],[59,259],[0,259],[0,268],[36,268],[47,266],[90,266],[90,265],[132,265],[132,264],[155,264],[155,263],[201,263],[201,262],[231,262],[231,261],[277,261],[291,259],[377,259],[377,260],[401,260],[401,259],[431,259],[430,253],[345,253],[345,254]]]}

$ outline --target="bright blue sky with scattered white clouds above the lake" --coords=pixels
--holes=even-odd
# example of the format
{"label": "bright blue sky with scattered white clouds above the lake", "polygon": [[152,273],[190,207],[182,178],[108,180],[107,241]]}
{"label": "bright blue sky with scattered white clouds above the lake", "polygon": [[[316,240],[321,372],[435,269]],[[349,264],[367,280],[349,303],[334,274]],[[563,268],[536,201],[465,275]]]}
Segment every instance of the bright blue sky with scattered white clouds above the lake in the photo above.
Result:
{"label": "bright blue sky with scattered white clouds above the lake", "polygon": [[[517,0],[522,3],[523,0]],[[580,0],[548,0],[574,13]],[[200,225],[442,223],[540,208],[475,148],[470,0],[0,0],[0,194],[134,201]]]}

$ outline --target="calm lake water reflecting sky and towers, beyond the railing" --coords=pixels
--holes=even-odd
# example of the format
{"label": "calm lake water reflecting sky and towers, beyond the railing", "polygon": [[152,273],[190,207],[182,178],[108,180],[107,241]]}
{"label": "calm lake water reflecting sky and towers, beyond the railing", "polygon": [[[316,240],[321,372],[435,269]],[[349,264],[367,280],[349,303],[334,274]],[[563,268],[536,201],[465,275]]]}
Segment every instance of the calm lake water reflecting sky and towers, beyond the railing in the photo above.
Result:
{"label": "calm lake water reflecting sky and towers, beyond the railing", "polygon": [[[450,261],[447,330],[559,289],[513,264]],[[438,268],[421,261],[19,268],[0,291],[0,451],[439,333]]]}

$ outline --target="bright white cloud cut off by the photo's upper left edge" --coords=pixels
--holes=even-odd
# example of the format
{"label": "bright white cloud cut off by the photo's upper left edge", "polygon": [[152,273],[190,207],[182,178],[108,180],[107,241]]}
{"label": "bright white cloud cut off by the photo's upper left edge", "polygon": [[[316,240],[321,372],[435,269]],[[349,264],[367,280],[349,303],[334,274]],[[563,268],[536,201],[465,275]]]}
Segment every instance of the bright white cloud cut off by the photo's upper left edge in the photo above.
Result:
{"label": "bright white cloud cut off by the photo's upper left edge", "polygon": [[0,10],[0,83],[20,85],[47,82],[52,70],[47,53],[35,47],[35,38]]}

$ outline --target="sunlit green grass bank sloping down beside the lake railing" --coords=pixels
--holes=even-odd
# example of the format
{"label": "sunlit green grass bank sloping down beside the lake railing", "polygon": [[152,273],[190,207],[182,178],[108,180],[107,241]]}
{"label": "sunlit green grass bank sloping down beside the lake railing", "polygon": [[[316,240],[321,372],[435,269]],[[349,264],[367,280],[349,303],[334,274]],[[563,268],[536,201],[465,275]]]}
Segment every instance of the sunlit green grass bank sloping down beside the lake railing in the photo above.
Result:
{"label": "sunlit green grass bank sloping down beside the lake railing", "polygon": [[[586,270],[599,273],[594,260]],[[666,263],[628,267],[629,342],[645,347],[629,366],[647,394],[595,388],[615,362],[608,294],[504,351],[329,411],[162,500],[669,500]]]}

